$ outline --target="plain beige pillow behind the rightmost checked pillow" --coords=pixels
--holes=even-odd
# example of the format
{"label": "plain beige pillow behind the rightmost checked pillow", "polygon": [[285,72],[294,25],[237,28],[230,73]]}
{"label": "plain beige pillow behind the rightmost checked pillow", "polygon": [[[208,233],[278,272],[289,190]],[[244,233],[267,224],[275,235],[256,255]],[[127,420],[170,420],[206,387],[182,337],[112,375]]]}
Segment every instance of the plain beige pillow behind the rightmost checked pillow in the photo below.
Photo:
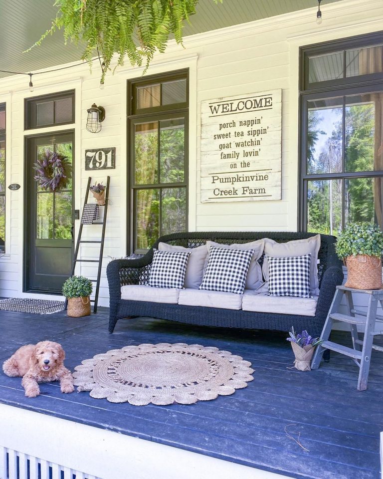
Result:
{"label": "plain beige pillow behind the rightmost checked pillow", "polygon": [[[318,279],[318,252],[321,247],[321,235],[312,236],[306,240],[293,240],[285,243],[278,243],[277,241],[265,238],[265,256],[272,256],[274,258],[287,258],[302,256],[311,253],[310,263],[310,290],[311,295],[318,296],[319,294],[319,279]],[[262,272],[265,281],[269,280],[269,265],[268,261],[264,260],[262,265]]]}

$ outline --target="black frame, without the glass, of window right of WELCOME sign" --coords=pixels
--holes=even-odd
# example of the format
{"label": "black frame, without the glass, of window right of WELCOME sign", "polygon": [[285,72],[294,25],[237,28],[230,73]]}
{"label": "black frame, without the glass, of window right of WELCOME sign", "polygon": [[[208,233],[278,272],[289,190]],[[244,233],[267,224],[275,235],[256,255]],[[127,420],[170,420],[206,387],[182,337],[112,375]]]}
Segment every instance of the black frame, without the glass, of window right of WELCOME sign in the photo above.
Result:
{"label": "black frame, without the glass, of window right of WELCOME sign", "polygon": [[[335,53],[343,50],[344,62],[346,59],[346,51],[353,49],[366,48],[377,44],[382,44],[383,32],[376,32],[367,35],[361,35],[341,40],[330,41],[321,44],[308,45],[300,47],[300,75],[299,75],[299,188],[298,188],[298,229],[299,231],[307,231],[308,220],[308,202],[307,202],[307,185],[309,181],[315,180],[337,180],[341,179],[342,183],[342,228],[344,228],[345,219],[345,195],[344,181],[352,178],[382,178],[383,171],[373,170],[365,172],[345,172],[345,128],[343,125],[343,141],[342,141],[342,170],[341,173],[307,173],[307,103],[312,100],[331,99],[343,97],[343,111],[345,108],[345,98],[352,95],[364,93],[383,93],[383,72],[370,73],[367,75],[359,75],[354,77],[346,77],[346,69],[344,63],[344,77],[337,80],[326,80],[316,83],[308,83],[309,75],[309,58],[327,53]],[[345,118],[343,116],[343,123]]]}

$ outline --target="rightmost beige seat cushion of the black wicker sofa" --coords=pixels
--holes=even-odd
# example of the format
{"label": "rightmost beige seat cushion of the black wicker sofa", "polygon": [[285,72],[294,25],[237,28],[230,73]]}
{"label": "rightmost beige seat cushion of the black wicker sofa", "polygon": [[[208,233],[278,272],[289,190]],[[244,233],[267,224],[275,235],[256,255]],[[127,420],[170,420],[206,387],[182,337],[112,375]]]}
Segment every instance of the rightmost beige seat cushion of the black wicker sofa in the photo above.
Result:
{"label": "rightmost beige seat cushion of the black wicker sofa", "polygon": [[292,296],[268,296],[267,292],[246,291],[242,298],[243,311],[262,313],[297,314],[315,316],[318,296],[296,298]]}

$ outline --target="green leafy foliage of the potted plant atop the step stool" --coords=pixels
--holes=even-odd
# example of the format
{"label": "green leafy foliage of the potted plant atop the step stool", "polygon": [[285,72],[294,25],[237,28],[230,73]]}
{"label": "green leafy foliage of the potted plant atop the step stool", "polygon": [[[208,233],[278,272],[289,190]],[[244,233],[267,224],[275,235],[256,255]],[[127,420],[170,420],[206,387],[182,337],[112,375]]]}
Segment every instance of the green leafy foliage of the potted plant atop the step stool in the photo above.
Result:
{"label": "green leafy foliage of the potted plant atop the step stool", "polygon": [[383,232],[371,223],[349,223],[339,234],[335,249],[341,259],[357,254],[381,257]]}

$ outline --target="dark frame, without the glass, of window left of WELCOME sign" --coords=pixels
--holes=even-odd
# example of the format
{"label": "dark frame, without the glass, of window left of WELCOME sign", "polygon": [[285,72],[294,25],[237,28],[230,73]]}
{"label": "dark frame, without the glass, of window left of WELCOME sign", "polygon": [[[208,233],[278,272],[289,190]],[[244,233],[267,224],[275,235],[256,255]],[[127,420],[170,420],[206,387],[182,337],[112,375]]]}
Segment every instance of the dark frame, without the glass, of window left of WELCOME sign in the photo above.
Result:
{"label": "dark frame, without the glass, of window left of WELCOME sign", "polygon": [[[135,105],[137,104],[137,88],[141,88],[147,85],[156,83],[167,83],[174,80],[186,79],[186,98],[187,101],[183,103],[174,103],[171,105],[161,105],[152,108],[143,108],[137,110]],[[136,194],[138,190],[144,189],[158,189],[160,192],[166,188],[185,188],[186,195],[186,231],[188,231],[189,223],[189,69],[183,69],[178,71],[172,71],[169,73],[161,73],[158,75],[152,75],[149,77],[135,78],[127,81],[127,212],[128,212],[128,224],[127,224],[127,254],[145,254],[147,249],[137,248],[137,218],[136,218]],[[148,185],[135,185],[135,165],[134,165],[134,127],[137,123],[146,123],[151,121],[169,120],[172,118],[183,117],[185,120],[185,156],[184,156],[184,181],[177,183],[154,183]],[[160,180],[160,178],[159,178]],[[161,199],[160,199],[161,205]],[[159,236],[161,234],[161,207],[159,210]]]}

